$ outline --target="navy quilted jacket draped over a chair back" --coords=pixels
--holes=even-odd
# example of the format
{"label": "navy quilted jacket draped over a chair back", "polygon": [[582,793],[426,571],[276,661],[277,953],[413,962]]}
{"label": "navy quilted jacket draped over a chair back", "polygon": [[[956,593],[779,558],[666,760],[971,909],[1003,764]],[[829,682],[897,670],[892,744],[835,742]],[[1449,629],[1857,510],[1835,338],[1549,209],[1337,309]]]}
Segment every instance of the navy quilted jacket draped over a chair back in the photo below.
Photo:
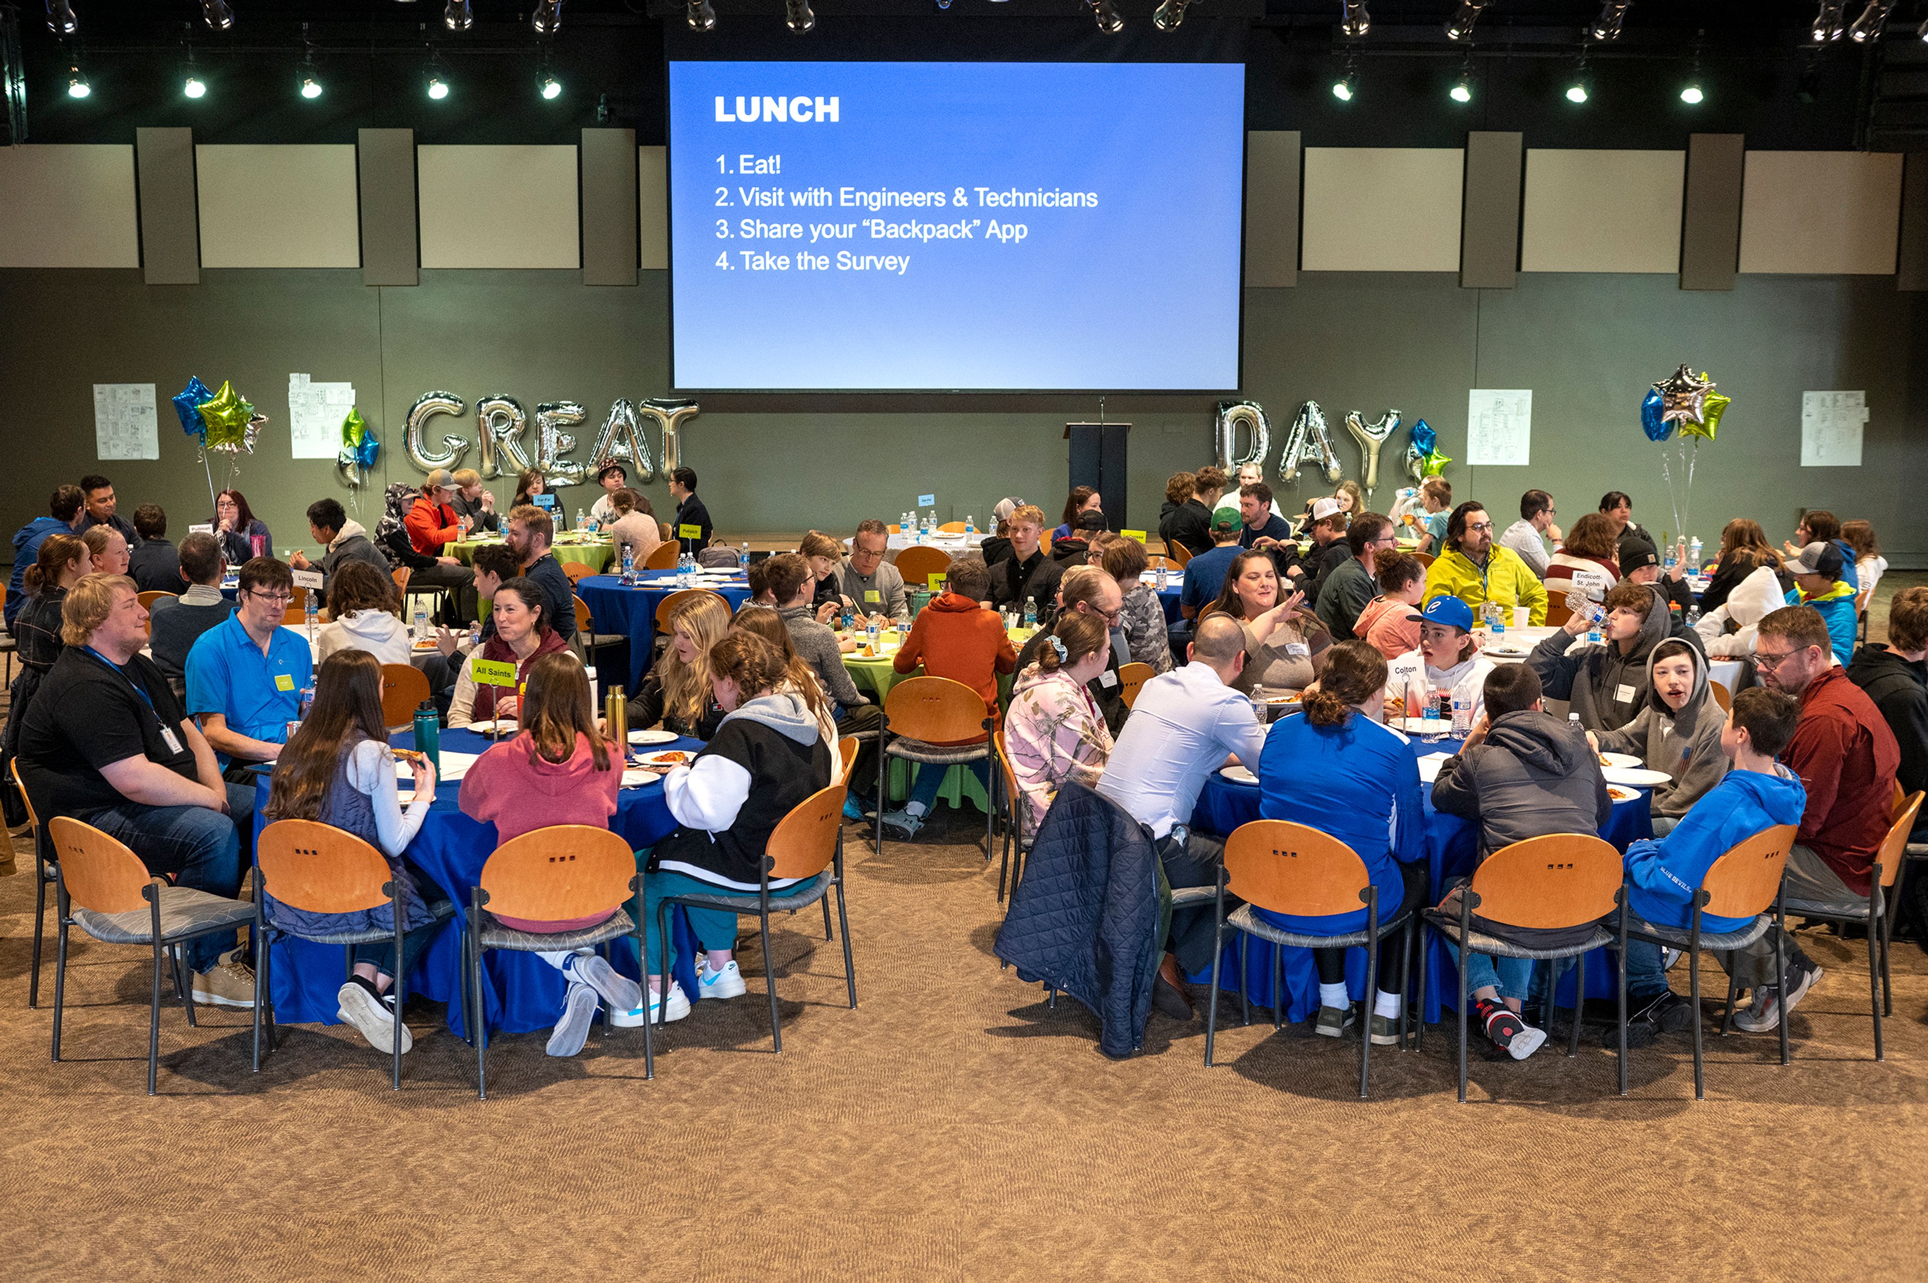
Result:
{"label": "navy quilted jacket draped over a chair back", "polygon": [[1168,921],[1151,832],[1109,798],[1066,782],[1010,894],[997,956],[1018,979],[1055,984],[1091,1008],[1099,1046],[1128,1056],[1145,1036]]}

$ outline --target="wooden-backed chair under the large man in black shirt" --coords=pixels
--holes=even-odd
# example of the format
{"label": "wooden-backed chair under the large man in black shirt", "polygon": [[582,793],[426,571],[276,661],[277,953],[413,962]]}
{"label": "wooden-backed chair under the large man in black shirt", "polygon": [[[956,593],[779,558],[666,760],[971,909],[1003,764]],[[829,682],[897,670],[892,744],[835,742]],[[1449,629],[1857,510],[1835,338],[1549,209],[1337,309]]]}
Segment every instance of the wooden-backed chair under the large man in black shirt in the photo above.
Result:
{"label": "wooden-backed chair under the large man in black shirt", "polygon": [[93,825],[56,815],[54,844],[54,1061],[60,1061],[60,1017],[67,998],[67,929],[79,927],[102,944],[145,944],[154,952],[147,1017],[147,1094],[160,1069],[160,957],[174,959],[174,986],[195,1025],[195,996],[175,946],[226,930],[229,936],[254,917],[253,905],[191,886],[168,886],[152,877],[121,842]]}

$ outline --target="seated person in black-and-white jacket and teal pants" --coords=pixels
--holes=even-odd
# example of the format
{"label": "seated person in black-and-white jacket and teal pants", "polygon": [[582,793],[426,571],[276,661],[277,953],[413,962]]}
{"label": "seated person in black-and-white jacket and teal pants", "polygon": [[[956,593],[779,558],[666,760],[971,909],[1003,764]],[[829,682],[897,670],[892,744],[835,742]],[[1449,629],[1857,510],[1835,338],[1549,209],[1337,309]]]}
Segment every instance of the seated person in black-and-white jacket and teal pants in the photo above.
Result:
{"label": "seated person in black-and-white jacket and teal pants", "polygon": [[[671,767],[663,798],[677,830],[648,851],[642,877],[646,932],[644,971],[650,971],[650,1009],[683,1019],[690,1000],[669,981],[663,996],[663,940],[656,905],[663,896],[754,894],[763,877],[763,846],[798,803],[829,786],[837,755],[817,734],[817,720],[794,694],[779,692],[787,678],[781,655],[763,638],[733,632],[710,647],[710,684],[723,722],[688,767]],[[771,898],[796,894],[808,880],[771,878]],[[744,992],[733,948],[736,915],[688,909],[690,929],[704,944],[696,961],[698,998],[736,998]]]}

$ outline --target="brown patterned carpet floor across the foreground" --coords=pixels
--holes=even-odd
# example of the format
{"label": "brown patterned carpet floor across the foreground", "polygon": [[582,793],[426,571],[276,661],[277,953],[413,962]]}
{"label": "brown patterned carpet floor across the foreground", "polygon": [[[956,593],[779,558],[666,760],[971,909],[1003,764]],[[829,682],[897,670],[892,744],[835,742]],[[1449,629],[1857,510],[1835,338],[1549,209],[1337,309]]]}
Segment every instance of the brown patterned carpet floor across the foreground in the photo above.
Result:
{"label": "brown patterned carpet floor across the foreground", "polygon": [[[1866,952],[1772,1036],[1633,1058],[1589,1036],[1523,1063],[1419,1054],[1271,1023],[1153,1015],[1111,1063],[1072,1002],[1001,973],[997,867],[976,813],[873,855],[852,838],[860,1008],[821,919],[775,932],[785,1050],[760,954],[750,994],[700,1004],[642,1079],[640,1031],[575,1060],[503,1038],[488,1102],[436,1006],[401,1094],[347,1029],[297,1027],[262,1073],[247,1019],[162,1019],[143,1092],[147,965],[81,944],[67,1060],[48,1061],[52,969],[27,1009],[33,859],[0,877],[0,1260],[10,1279],[1421,1279],[1928,1277],[1928,957],[1895,950],[1888,1061]],[[854,830],[852,830],[854,832]],[[981,828],[976,828],[981,842]],[[4,865],[0,865],[4,873]],[[1724,990],[1718,969],[1708,986]],[[1685,967],[1675,986],[1685,988]],[[1226,1008],[1236,1021],[1236,1004]]]}

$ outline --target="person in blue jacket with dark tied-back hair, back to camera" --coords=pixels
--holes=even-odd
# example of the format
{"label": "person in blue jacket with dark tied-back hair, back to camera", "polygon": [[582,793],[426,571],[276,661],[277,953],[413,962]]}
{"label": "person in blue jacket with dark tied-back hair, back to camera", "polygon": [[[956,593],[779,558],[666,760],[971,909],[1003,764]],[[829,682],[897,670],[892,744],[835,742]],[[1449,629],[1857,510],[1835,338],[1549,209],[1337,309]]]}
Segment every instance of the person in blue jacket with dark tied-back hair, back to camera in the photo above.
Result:
{"label": "person in blue jacket with dark tied-back hair, back to camera", "polygon": [[[1326,651],[1319,690],[1305,711],[1272,722],[1259,757],[1259,815],[1307,825],[1350,846],[1379,888],[1379,921],[1417,911],[1427,898],[1425,807],[1419,755],[1398,730],[1379,720],[1386,657],[1365,642],[1338,642]],[[1255,913],[1274,927],[1340,936],[1365,930],[1365,905],[1330,917]],[[1315,950],[1319,1019],[1315,1033],[1338,1038],[1353,1023],[1346,990],[1346,950]],[[1379,942],[1379,992],[1369,1036],[1379,1046],[1400,1040],[1400,936]]]}

